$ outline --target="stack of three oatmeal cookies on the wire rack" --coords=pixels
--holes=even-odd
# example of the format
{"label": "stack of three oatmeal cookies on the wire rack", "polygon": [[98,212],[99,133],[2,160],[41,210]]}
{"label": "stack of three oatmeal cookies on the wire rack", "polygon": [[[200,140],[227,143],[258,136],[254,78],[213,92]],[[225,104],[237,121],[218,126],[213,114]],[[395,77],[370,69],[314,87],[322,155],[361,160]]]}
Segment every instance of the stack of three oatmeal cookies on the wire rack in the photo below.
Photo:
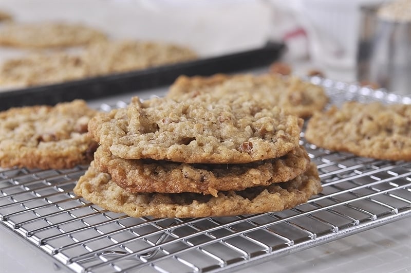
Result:
{"label": "stack of three oatmeal cookies on the wire rack", "polygon": [[209,96],[134,97],[97,115],[88,130],[100,147],[74,192],[135,217],[204,217],[283,210],[321,191],[302,119],[251,94]]}

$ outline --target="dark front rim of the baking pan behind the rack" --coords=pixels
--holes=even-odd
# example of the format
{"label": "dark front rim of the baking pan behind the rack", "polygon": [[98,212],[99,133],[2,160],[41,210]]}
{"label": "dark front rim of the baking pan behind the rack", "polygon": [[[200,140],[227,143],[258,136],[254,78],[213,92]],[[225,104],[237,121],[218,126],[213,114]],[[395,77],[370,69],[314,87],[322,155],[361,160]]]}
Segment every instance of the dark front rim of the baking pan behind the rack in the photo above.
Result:
{"label": "dark front rim of the baking pan behind the rack", "polygon": [[0,110],[13,106],[50,104],[73,99],[95,99],[121,93],[135,92],[168,85],[180,75],[209,76],[261,67],[276,60],[284,44],[268,42],[264,47],[199,59],[191,62],[135,70],[121,74],[69,81],[59,84],[35,86],[0,92]]}

